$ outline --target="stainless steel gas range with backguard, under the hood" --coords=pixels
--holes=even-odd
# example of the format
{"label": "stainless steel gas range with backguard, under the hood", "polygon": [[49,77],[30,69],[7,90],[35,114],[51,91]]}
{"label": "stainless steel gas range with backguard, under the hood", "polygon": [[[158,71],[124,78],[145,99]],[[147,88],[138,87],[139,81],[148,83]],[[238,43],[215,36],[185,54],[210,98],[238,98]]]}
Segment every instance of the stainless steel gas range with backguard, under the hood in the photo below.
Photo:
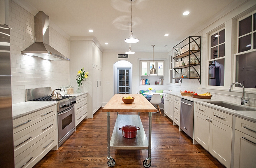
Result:
{"label": "stainless steel gas range with backguard, under the hood", "polygon": [[72,133],[75,132],[75,103],[76,96],[62,96],[60,99],[53,99],[49,96],[51,87],[27,89],[26,101],[57,101],[58,112],[58,140],[59,147]]}

